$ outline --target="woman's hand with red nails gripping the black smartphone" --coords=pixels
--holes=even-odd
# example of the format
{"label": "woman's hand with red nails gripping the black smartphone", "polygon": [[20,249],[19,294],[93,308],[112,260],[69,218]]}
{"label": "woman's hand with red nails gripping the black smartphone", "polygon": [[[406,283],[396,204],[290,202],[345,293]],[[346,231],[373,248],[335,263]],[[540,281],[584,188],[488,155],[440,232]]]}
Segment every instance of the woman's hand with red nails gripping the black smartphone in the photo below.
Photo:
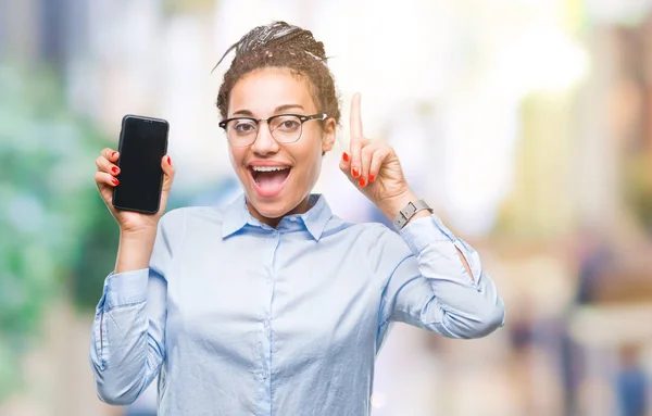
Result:
{"label": "woman's hand with red nails gripping the black smartphone", "polygon": [[161,215],[165,212],[165,204],[172,188],[175,168],[172,166],[170,156],[165,155],[161,160],[161,168],[163,169],[163,189],[161,193],[161,205],[156,214],[143,214],[133,211],[116,210],[113,206],[113,189],[120,185],[116,176],[120,174],[120,168],[115,165],[120,153],[113,149],[102,150],[101,155],[96,160],[98,172],[95,174],[95,180],[100,191],[100,196],[104,200],[111,215],[117,222],[121,232],[123,234],[140,234],[155,232]]}

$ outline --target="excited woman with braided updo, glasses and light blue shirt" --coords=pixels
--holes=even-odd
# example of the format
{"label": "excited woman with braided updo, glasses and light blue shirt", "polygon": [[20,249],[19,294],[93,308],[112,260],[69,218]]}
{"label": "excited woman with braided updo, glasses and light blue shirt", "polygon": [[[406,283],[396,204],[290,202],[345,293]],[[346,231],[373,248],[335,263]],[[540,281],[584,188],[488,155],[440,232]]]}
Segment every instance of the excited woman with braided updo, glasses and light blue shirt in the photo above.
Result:
{"label": "excited woman with braided updo, glasses and light blue shirt", "polygon": [[174,178],[165,156],[160,213],[116,211],[120,155],[98,157],[121,229],[92,329],[99,396],[131,403],[160,375],[160,415],[368,414],[392,323],[478,338],[503,325],[503,302],[393,150],[364,138],[359,94],[340,168],[400,235],[344,223],[311,194],[340,117],[322,42],[280,22],[233,49],[217,108],[241,198],[161,218]]}

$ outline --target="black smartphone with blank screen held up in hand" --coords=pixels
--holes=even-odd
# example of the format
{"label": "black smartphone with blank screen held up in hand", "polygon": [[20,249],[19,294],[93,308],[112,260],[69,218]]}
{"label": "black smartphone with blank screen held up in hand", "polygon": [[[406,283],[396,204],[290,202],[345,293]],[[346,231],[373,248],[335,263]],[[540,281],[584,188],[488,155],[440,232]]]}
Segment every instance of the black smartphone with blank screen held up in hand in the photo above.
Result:
{"label": "black smartphone with blank screen held up in hand", "polygon": [[161,205],[163,169],[161,160],[167,153],[170,125],[161,118],[125,115],[120,133],[113,206],[118,210],[155,214]]}

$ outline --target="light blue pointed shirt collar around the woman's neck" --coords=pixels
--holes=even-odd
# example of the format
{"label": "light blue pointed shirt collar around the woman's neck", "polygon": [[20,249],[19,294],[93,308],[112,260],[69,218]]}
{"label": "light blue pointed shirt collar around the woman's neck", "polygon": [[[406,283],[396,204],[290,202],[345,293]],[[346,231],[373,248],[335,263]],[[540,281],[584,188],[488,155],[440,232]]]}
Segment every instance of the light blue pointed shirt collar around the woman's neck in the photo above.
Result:
{"label": "light blue pointed shirt collar around the woman's neck", "polygon": [[[313,193],[309,197],[309,199],[311,209],[308,210],[308,212],[303,214],[290,215],[289,217],[284,218],[278,228],[280,230],[284,226],[284,222],[290,220],[290,217],[299,218],[305,226],[308,232],[310,232],[310,235],[318,241],[322,237],[322,234],[324,234],[326,224],[333,217],[333,212],[330,211],[330,206],[328,206],[328,203],[323,194]],[[222,238],[227,238],[240,231],[247,225],[272,230],[271,227],[262,224],[251,216],[249,210],[247,209],[247,199],[244,198],[244,194],[241,193],[226,209],[224,222],[222,224]]]}

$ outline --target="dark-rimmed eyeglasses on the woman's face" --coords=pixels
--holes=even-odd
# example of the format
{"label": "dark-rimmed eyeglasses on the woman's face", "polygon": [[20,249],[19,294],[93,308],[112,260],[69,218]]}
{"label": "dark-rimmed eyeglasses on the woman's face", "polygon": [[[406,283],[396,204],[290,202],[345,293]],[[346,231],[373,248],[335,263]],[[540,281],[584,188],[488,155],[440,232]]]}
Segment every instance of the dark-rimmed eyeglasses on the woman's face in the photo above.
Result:
{"label": "dark-rimmed eyeglasses on the woman's face", "polygon": [[266,122],[274,140],[279,143],[293,143],[301,138],[303,123],[311,119],[324,121],[328,114],[313,115],[277,114],[269,118],[234,117],[220,122],[226,131],[226,138],[234,148],[246,148],[258,138],[261,122]]}

